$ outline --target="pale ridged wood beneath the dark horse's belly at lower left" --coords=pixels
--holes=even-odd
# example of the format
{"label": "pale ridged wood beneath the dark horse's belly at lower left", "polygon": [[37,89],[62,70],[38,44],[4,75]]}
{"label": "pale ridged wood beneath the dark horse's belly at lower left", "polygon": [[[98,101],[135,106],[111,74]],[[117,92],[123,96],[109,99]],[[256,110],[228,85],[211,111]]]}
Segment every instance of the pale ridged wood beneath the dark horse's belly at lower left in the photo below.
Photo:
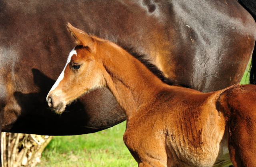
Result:
{"label": "pale ridged wood beneath the dark horse's belly at lower left", "polygon": [[35,167],[52,137],[2,132],[2,167]]}

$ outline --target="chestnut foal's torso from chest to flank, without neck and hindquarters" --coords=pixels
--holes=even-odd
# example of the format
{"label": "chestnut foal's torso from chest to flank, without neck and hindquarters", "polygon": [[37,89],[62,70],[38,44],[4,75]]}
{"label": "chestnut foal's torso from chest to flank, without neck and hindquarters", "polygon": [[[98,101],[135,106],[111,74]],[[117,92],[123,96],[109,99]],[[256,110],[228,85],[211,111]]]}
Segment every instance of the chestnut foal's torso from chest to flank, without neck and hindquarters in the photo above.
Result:
{"label": "chestnut foal's torso from chest to flank, without neck and hindquarters", "polygon": [[127,123],[124,142],[136,161],[157,167],[230,165],[225,119],[213,103],[222,91],[173,87],[163,92]]}

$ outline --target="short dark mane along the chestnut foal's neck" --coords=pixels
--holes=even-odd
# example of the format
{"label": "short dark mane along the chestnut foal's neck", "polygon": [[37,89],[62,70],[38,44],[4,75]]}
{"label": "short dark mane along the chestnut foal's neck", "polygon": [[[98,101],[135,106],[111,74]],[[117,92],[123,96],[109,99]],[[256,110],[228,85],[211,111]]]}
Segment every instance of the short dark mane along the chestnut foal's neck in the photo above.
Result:
{"label": "short dark mane along the chestnut foal's neck", "polygon": [[167,83],[168,85],[177,85],[175,80],[165,77],[164,73],[158,67],[150,63],[150,60],[146,59],[146,55],[135,52],[134,48],[127,45],[118,45],[121,46],[128,53],[130,53],[132,56],[134,56],[134,58],[140,60],[140,62],[142,62],[142,64],[144,64],[148,68],[148,70],[150,70],[155,76],[162,80],[162,82]]}

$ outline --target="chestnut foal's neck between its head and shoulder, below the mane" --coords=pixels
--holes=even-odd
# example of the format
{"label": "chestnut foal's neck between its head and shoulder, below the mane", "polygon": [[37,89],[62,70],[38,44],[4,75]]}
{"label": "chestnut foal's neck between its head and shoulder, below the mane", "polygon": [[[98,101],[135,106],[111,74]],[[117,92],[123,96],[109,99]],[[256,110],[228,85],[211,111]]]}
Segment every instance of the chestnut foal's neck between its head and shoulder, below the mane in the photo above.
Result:
{"label": "chestnut foal's neck between its head and shoulder, below the mane", "polygon": [[166,86],[139,60],[119,47],[115,52],[106,52],[106,84],[119,105],[124,110],[127,120],[141,107],[156,97]]}

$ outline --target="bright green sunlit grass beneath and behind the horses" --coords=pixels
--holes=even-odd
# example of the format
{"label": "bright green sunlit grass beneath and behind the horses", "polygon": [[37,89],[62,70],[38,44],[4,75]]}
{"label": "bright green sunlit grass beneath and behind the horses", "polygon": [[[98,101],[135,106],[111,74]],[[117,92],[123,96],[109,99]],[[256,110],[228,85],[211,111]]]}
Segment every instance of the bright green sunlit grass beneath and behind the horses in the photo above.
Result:
{"label": "bright green sunlit grass beneath and behind the horses", "polygon": [[[245,74],[241,84],[246,83]],[[56,136],[36,167],[135,167],[137,163],[122,139],[125,124],[93,134]]]}

